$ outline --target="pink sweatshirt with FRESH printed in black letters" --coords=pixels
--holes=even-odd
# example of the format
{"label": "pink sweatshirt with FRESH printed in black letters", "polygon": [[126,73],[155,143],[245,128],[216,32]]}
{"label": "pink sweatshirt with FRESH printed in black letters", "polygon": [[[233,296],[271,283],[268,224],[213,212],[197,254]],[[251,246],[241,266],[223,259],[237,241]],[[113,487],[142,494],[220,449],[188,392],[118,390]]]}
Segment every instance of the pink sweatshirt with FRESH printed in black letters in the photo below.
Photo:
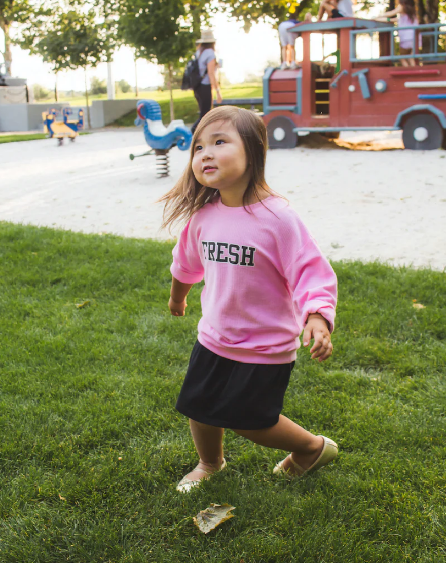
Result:
{"label": "pink sweatshirt with FRESH printed in black letters", "polygon": [[194,213],[170,271],[183,283],[205,279],[203,346],[231,360],[285,364],[296,359],[309,314],[334,329],[337,279],[288,202],[270,196],[247,209],[218,199]]}

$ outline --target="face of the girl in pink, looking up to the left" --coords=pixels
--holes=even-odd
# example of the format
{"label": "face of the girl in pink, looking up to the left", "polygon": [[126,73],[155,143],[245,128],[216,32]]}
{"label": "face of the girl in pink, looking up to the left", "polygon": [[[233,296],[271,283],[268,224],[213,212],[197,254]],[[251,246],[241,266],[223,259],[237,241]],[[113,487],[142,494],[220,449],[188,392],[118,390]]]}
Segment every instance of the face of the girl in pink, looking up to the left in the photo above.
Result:
{"label": "face of the girl in pink, looking up to the left", "polygon": [[201,185],[223,194],[243,196],[250,169],[243,141],[229,121],[209,123],[192,148],[192,172]]}

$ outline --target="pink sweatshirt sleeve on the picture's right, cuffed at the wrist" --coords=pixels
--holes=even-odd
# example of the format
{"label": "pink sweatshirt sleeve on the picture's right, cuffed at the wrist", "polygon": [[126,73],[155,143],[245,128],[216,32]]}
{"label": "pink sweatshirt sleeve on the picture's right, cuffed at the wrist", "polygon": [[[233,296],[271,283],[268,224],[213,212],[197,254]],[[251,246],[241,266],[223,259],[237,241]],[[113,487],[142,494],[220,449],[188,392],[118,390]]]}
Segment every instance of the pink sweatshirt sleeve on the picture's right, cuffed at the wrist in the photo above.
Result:
{"label": "pink sweatshirt sleeve on the picture's right, cuffed at the wrist", "polygon": [[337,301],[336,274],[305,227],[302,224],[298,227],[293,234],[290,233],[282,264],[293,293],[299,324],[304,327],[308,315],[319,313],[328,321],[330,332],[333,332]]}

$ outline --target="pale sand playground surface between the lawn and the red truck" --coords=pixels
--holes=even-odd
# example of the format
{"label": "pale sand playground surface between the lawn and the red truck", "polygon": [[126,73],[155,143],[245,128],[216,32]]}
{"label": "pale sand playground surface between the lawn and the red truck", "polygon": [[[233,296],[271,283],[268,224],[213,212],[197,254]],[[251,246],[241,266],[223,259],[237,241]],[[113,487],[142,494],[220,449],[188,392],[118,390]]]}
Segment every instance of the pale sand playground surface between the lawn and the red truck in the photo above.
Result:
{"label": "pale sand playground surface between the lawn and the red truck", "polygon": [[[403,150],[400,132],[301,137],[270,150],[266,178],[289,199],[332,260],[446,268],[446,151]],[[156,178],[140,128],[68,140],[0,145],[0,221],[82,233],[171,239],[155,203],[179,178],[188,152],[170,151]],[[178,231],[177,231],[178,233]],[[174,232],[174,235],[176,233]]]}

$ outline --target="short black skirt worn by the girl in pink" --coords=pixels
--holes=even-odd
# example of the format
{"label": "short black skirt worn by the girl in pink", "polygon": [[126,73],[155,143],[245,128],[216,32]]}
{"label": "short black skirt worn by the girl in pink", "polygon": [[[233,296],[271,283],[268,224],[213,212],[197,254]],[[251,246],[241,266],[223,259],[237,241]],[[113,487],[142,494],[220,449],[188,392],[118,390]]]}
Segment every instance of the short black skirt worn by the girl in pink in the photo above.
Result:
{"label": "short black skirt worn by the girl in pink", "polygon": [[260,430],[279,421],[294,361],[249,364],[193,347],[176,409],[210,426]]}

